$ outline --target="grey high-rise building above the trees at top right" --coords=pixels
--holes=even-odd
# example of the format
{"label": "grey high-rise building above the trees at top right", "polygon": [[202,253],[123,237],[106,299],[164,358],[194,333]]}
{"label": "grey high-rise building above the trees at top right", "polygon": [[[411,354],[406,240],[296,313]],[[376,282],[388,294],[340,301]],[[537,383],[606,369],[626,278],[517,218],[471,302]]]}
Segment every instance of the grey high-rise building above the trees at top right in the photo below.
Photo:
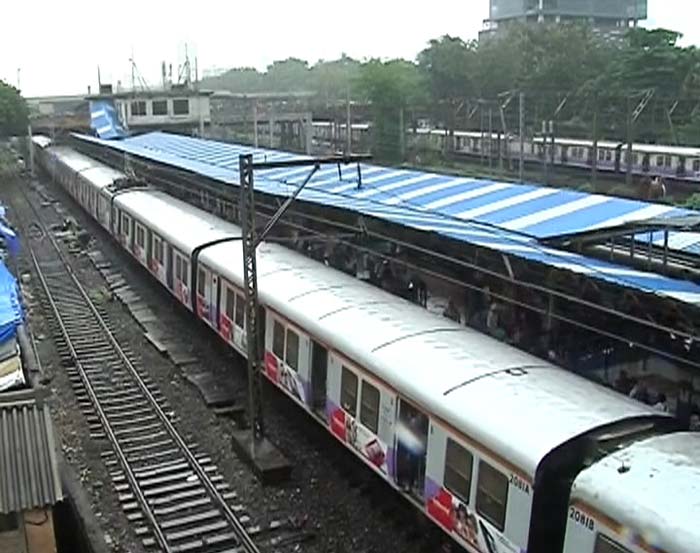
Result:
{"label": "grey high-rise building above the trees at top right", "polygon": [[647,0],[490,0],[480,38],[513,23],[588,23],[602,32],[622,31],[647,17]]}

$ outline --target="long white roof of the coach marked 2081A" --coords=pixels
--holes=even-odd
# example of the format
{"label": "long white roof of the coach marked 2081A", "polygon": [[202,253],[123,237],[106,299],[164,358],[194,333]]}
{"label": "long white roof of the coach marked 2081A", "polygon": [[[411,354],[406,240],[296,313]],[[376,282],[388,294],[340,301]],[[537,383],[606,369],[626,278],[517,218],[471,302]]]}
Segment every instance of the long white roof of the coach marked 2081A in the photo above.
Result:
{"label": "long white roof of the coach marked 2081A", "polygon": [[[239,243],[200,259],[241,285]],[[275,311],[530,477],[571,438],[657,414],[291,250],[261,245],[258,272]]]}

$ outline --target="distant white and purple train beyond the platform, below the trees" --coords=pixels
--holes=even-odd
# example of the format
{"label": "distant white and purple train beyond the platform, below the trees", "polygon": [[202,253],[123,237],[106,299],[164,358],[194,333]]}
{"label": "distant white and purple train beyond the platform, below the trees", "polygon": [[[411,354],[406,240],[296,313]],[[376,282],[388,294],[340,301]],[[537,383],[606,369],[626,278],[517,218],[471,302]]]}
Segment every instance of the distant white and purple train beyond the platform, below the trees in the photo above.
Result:
{"label": "distant white and purple train beyond the platform, below the trees", "polygon": [[[351,125],[353,143],[368,143],[371,126]],[[345,140],[345,125],[327,121],[314,121],[314,138],[318,141],[331,141],[336,134],[339,141]],[[452,142],[451,147],[450,141]],[[526,138],[523,144],[524,160],[527,163],[543,163],[545,140],[542,137]],[[480,158],[489,152],[493,158],[520,159],[520,141],[517,136],[492,133],[489,147],[489,133],[456,130],[450,138],[444,129],[419,127],[407,131],[407,145],[417,150],[452,152],[455,155]],[[551,142],[547,144],[547,160],[557,167],[591,170],[593,167],[594,144],[591,140],[574,138],[555,139],[552,154]],[[605,174],[627,172],[627,144],[620,141],[601,140],[598,142],[598,170]],[[632,173],[638,177],[659,177],[690,183],[700,183],[700,148],[691,146],[668,146],[656,144],[632,145]]]}

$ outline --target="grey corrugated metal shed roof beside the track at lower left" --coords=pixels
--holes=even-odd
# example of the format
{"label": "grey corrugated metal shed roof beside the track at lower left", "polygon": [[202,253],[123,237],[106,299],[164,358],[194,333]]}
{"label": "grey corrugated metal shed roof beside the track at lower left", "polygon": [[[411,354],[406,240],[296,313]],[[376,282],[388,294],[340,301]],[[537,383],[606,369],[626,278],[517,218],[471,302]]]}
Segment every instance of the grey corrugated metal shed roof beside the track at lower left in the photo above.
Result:
{"label": "grey corrugated metal shed roof beside the track at lower left", "polygon": [[0,514],[62,497],[48,406],[34,390],[0,394]]}

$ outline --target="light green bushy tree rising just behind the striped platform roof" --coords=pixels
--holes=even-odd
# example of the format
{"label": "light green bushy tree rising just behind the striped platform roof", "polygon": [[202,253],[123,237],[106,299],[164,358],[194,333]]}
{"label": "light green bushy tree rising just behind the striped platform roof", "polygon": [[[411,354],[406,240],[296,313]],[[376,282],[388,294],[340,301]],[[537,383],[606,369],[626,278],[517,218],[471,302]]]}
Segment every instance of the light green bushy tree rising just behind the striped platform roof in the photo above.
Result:
{"label": "light green bushy tree rising just behind the striped platform roof", "polygon": [[362,65],[356,86],[371,106],[373,154],[385,161],[402,161],[402,115],[407,107],[422,103],[426,97],[418,66],[402,59],[370,60]]}

